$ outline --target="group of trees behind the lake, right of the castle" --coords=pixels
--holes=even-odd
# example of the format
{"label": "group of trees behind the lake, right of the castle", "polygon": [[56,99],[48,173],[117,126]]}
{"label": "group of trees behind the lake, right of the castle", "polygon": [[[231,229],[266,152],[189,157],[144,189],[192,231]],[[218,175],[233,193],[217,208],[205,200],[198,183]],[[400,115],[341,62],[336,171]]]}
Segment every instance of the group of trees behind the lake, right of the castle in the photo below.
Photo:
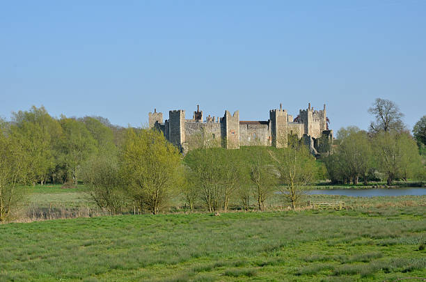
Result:
{"label": "group of trees behind the lake, right of the castle", "polygon": [[368,109],[375,120],[370,130],[341,128],[333,148],[324,154],[328,177],[332,182],[358,184],[363,180],[424,180],[425,159],[420,155],[425,146],[426,116],[413,128],[413,136],[402,123],[404,116],[397,105],[377,99]]}

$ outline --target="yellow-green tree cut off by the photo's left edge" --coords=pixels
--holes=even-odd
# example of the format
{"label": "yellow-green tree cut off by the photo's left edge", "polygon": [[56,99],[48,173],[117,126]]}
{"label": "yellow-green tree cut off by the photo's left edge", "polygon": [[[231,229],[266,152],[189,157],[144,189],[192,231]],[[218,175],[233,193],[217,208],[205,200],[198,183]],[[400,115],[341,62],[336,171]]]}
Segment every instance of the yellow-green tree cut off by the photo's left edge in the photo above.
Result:
{"label": "yellow-green tree cut off by the photo's left edge", "polygon": [[26,152],[13,136],[0,127],[0,222],[6,221],[22,200],[19,184],[28,173]]}

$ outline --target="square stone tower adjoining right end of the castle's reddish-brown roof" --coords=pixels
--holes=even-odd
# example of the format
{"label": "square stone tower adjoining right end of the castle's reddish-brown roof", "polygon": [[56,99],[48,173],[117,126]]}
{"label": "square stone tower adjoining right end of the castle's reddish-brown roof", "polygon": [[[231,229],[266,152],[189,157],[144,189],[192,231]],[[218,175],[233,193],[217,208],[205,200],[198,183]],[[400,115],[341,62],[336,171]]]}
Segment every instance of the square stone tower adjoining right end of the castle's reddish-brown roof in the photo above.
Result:
{"label": "square stone tower adjoining right end of the castle's reddish-brown roof", "polygon": [[287,147],[287,111],[283,110],[281,104],[280,109],[272,109],[269,111],[269,120],[271,120],[272,146],[276,148]]}

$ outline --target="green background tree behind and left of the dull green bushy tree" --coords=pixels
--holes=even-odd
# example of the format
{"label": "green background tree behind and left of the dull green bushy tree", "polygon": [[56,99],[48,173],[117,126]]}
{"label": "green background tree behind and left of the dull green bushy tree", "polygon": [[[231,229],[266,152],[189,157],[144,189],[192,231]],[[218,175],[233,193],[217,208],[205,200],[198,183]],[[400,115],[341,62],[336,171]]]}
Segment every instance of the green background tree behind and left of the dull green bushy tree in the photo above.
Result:
{"label": "green background tree behind and left of the dull green bushy tree", "polygon": [[77,185],[79,169],[82,164],[97,152],[96,141],[84,123],[74,118],[61,117],[59,120],[63,135],[61,136],[61,162],[68,178]]}

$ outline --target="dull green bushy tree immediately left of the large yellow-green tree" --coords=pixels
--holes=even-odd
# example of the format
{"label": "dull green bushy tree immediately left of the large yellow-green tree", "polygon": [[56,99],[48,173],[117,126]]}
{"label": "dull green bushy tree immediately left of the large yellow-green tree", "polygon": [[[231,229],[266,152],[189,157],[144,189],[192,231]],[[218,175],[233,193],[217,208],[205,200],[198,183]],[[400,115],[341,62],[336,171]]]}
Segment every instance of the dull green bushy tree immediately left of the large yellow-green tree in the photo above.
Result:
{"label": "dull green bushy tree immediately left of the large yellow-green tree", "polygon": [[81,176],[90,198],[102,209],[118,214],[127,205],[116,155],[93,155],[84,164]]}

